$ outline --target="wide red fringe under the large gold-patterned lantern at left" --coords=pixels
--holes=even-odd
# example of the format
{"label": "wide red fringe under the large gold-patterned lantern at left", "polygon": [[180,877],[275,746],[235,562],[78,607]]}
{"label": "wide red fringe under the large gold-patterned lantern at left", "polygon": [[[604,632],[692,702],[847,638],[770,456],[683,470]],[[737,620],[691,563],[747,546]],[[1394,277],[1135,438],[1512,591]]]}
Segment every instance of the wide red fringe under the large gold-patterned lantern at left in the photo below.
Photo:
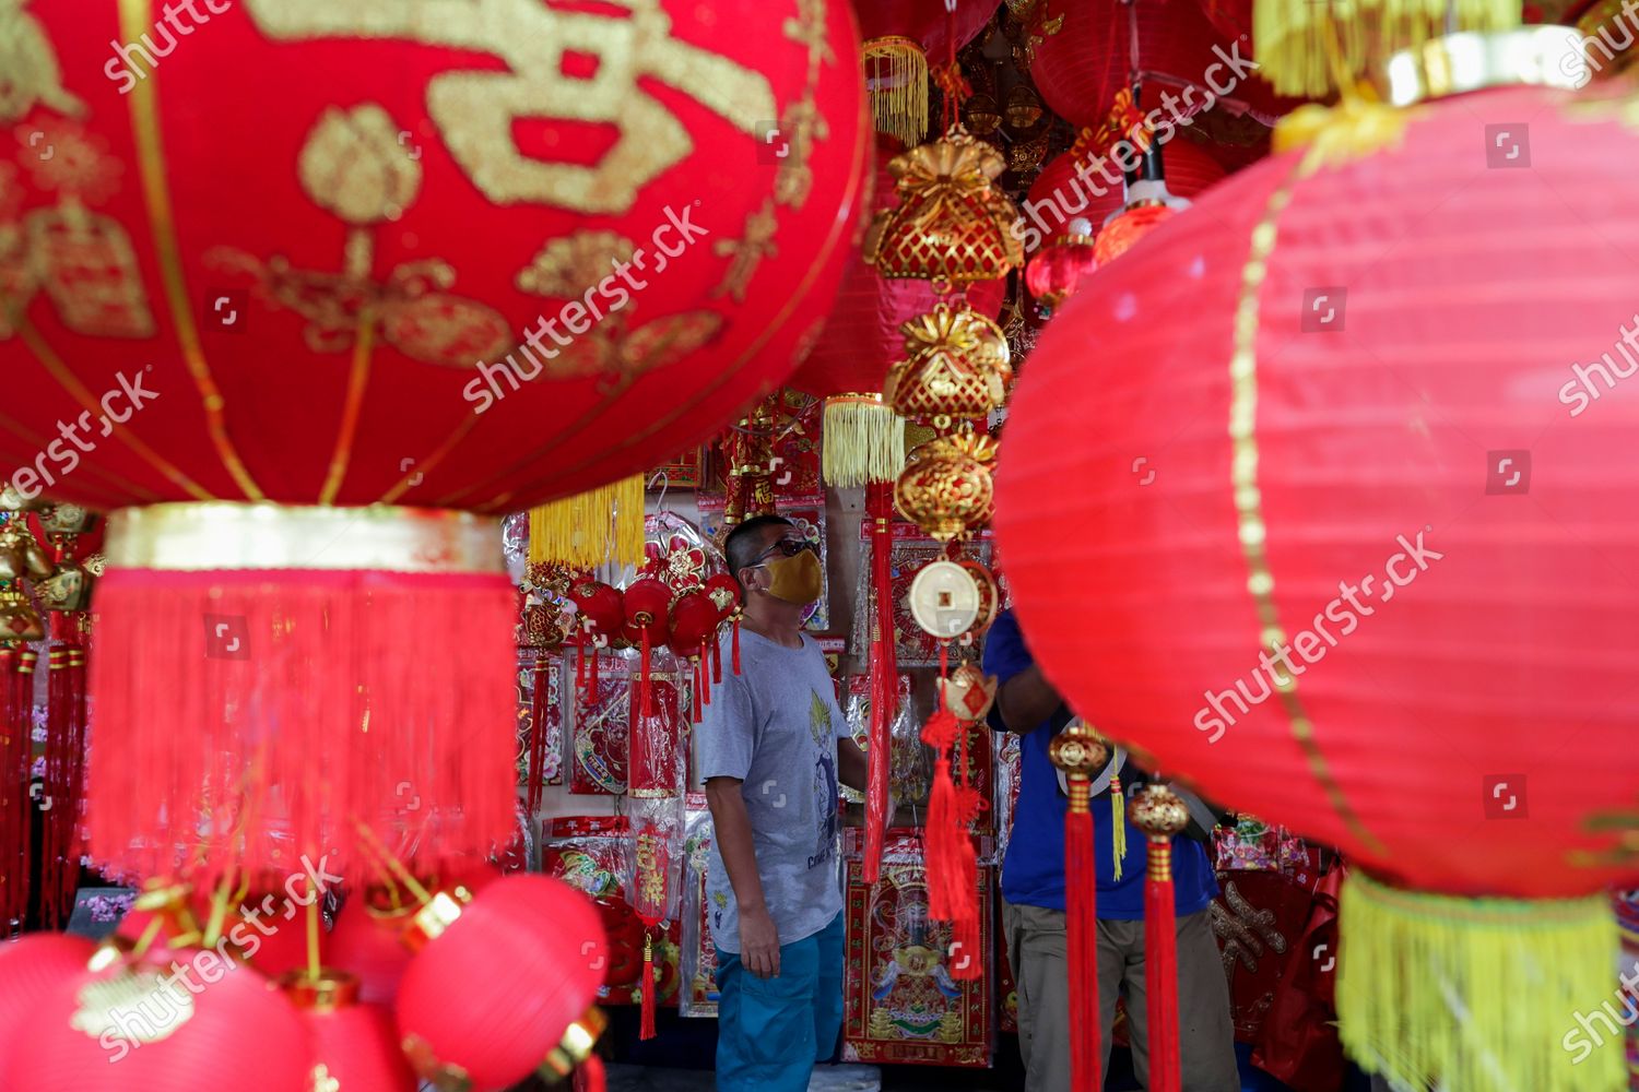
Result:
{"label": "wide red fringe under the large gold-patterned lantern at left", "polygon": [[[97,596],[97,715],[118,730],[90,748],[85,825],[115,873],[167,874],[188,855],[211,886],[331,853],[333,874],[365,884],[356,820],[425,858],[510,837],[505,576],[120,568]],[[429,632],[461,635],[434,668],[416,655]]]}

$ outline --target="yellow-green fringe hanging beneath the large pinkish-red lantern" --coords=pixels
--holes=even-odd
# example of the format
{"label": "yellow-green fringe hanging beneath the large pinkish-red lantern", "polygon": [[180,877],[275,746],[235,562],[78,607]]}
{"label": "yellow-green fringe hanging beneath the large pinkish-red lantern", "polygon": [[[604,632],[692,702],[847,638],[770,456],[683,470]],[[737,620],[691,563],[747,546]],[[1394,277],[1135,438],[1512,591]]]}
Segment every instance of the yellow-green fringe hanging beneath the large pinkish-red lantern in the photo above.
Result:
{"label": "yellow-green fringe hanging beneath the large pinkish-red lantern", "polygon": [[1628,1087],[1603,894],[1460,899],[1352,874],[1339,914],[1337,1018],[1360,1067],[1452,1092]]}

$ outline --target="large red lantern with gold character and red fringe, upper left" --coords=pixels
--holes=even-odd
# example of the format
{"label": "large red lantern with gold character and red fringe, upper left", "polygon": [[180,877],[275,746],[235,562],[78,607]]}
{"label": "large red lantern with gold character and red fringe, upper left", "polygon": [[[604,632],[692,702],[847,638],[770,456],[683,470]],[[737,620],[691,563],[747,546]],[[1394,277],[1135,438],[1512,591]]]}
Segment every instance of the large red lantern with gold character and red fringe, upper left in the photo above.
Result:
{"label": "large red lantern with gold character and red fringe, upper left", "polygon": [[92,665],[89,833],[123,871],[192,861],[202,814],[202,879],[321,848],[372,879],[359,824],[505,838],[511,596],[447,509],[701,440],[841,275],[846,3],[446,7],[15,18],[0,465],[148,506],[110,521]]}

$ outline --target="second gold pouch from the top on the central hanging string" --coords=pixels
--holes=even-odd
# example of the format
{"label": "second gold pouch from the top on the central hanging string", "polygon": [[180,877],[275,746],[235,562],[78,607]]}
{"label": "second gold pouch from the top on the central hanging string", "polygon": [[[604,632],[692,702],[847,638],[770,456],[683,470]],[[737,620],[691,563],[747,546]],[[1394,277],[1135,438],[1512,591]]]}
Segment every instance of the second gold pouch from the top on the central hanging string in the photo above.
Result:
{"label": "second gold pouch from the top on the central hanging string", "polygon": [[905,360],[888,368],[882,393],[893,413],[942,432],[957,419],[983,417],[1006,401],[1013,354],[992,319],[941,303],[900,326],[900,332]]}

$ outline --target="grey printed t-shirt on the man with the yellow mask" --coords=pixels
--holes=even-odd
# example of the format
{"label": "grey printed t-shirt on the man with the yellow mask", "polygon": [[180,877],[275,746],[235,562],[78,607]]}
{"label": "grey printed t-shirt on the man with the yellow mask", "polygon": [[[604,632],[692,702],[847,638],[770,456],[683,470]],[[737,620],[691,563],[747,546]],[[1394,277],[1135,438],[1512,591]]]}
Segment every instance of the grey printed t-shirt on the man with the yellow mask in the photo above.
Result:
{"label": "grey printed t-shirt on the man with the yellow mask", "polygon": [[[724,639],[726,642],[728,639]],[[723,645],[723,663],[729,663]],[[700,778],[739,778],[751,817],[757,874],[780,943],[813,936],[842,912],[838,884],[836,742],[847,722],[824,653],[808,635],[785,648],[747,629],[741,673],[723,673],[695,729]],[[739,954],[739,912],[723,855],[711,842],[706,866],[711,940]]]}

